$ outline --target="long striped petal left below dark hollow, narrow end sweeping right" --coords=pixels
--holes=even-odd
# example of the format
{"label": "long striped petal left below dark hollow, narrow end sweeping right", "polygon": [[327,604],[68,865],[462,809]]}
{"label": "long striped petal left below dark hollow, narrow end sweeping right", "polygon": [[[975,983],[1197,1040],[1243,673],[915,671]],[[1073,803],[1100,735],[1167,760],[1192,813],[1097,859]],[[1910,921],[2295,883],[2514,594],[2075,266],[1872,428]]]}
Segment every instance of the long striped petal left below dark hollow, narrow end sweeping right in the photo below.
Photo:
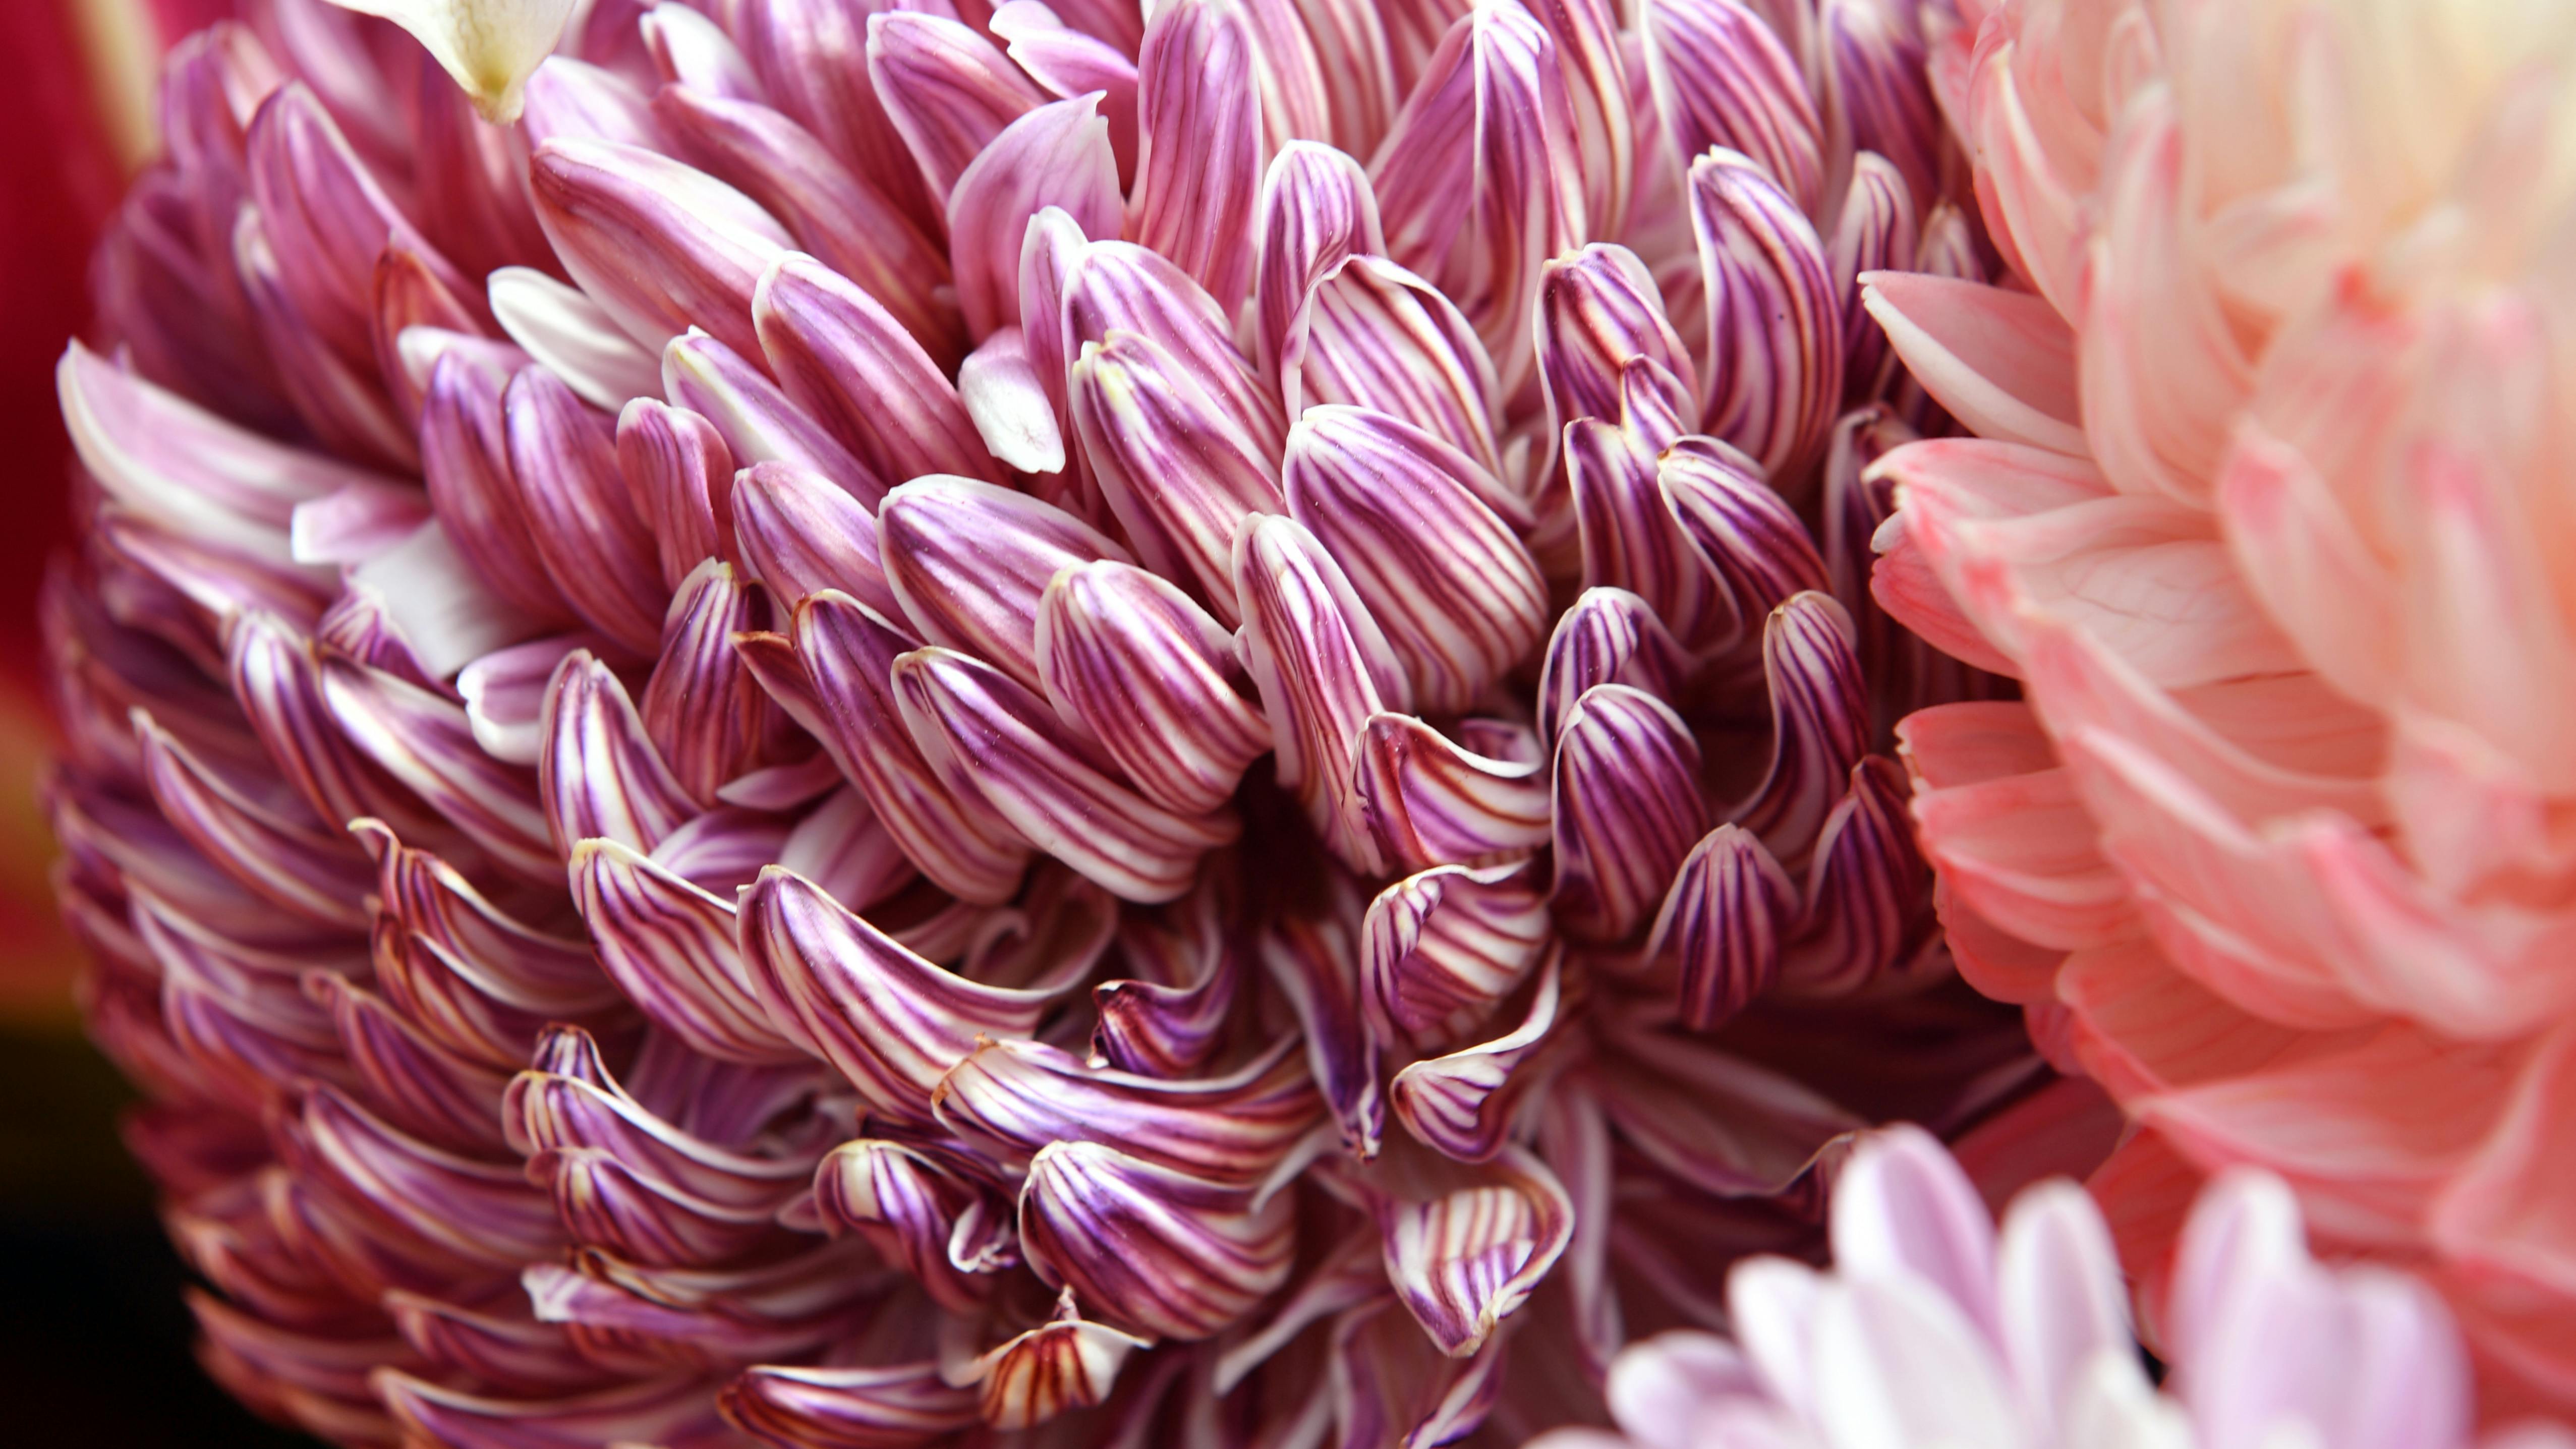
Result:
{"label": "long striped petal left below dark hollow, narrow end sweeping right", "polygon": [[775,865],[742,896],[739,932],[752,993],[770,1022],[896,1122],[930,1122],[948,1068],[987,1037],[1025,1037],[1079,981],[1066,973],[1033,988],[966,981]]}

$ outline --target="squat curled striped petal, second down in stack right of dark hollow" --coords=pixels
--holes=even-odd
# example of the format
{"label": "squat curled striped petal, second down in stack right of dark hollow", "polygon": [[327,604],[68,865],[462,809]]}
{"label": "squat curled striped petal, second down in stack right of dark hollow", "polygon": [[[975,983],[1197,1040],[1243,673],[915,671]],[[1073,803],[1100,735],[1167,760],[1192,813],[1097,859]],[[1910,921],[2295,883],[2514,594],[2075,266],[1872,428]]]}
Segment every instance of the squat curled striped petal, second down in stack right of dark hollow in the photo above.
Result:
{"label": "squat curled striped petal, second down in stack right of dark hollow", "polygon": [[1368,1024],[1391,1048],[1445,1048],[1528,981],[1553,937],[1525,865],[1443,865],[1396,880],[1360,924]]}

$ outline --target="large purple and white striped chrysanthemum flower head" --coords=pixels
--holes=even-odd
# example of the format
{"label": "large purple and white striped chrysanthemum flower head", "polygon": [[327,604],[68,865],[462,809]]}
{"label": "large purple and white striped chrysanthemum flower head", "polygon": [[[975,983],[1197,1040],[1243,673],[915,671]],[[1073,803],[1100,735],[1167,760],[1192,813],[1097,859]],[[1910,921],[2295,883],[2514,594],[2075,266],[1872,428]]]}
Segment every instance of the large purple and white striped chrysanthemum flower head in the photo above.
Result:
{"label": "large purple and white striped chrysanthemum flower head", "polygon": [[1911,3],[379,8],[180,46],[59,373],[242,1398],[1512,1436],[1865,1122],[2107,1150],[1880,749],[1994,687],[1865,597],[1855,278],[1984,278]]}

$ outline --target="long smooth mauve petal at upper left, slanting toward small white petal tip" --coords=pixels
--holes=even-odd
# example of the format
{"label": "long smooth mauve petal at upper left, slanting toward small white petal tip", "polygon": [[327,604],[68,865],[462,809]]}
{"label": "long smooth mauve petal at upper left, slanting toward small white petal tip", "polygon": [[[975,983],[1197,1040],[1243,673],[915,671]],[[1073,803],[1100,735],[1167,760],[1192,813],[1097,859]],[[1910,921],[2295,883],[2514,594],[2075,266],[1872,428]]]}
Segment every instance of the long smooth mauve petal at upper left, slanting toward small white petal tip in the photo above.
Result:
{"label": "long smooth mauve petal at upper left, slanting toward small white petal tip", "polygon": [[902,201],[855,175],[811,131],[755,100],[685,85],[662,88],[654,111],[688,157],[768,208],[801,250],[858,283],[922,350],[940,363],[966,350],[966,319],[945,293],[945,250]]}

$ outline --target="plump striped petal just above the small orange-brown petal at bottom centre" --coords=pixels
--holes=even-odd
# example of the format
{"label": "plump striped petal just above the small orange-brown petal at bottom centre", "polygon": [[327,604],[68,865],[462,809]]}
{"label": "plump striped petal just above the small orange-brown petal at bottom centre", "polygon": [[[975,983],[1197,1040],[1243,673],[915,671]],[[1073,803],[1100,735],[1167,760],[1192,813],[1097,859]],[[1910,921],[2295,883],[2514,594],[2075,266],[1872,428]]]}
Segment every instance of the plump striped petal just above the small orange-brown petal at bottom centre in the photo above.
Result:
{"label": "plump striped petal just above the small orange-brown petal at bottom centre", "polygon": [[1048,1143],[1020,1186],[1020,1243],[1048,1287],[1188,1343],[1224,1333],[1288,1282],[1296,1197],[1257,1197],[1100,1143]]}

